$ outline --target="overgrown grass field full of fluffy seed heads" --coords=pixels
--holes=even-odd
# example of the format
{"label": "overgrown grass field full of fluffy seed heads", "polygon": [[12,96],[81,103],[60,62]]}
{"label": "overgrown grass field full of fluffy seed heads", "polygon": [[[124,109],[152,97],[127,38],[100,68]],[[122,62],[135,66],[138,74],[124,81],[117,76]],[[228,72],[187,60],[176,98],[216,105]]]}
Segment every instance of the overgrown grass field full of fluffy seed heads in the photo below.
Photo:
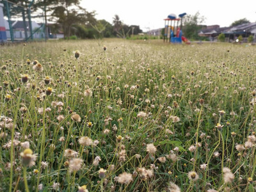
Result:
{"label": "overgrown grass field full of fluffy seed heads", "polygon": [[255,52],[2,46],[0,191],[256,191]]}

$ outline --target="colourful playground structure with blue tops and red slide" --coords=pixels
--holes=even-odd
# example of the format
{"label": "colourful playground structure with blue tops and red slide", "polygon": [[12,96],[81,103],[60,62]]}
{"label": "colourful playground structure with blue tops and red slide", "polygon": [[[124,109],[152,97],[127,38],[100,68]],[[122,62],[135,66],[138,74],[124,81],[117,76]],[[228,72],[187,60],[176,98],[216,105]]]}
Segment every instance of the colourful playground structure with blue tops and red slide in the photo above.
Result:
{"label": "colourful playground structure with blue tops and red slide", "polygon": [[[190,44],[189,40],[182,36],[182,18],[186,13],[182,13],[177,16],[173,13],[168,15],[167,19],[164,19],[164,42],[170,42],[172,44]],[[180,26],[179,26],[180,22]]]}

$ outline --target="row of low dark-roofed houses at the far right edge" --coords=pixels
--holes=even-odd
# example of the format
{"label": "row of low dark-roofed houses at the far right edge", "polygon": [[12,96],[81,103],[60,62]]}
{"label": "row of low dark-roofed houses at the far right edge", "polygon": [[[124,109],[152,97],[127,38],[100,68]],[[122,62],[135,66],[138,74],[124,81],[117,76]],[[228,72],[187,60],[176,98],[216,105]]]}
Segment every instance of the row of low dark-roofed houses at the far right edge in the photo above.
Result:
{"label": "row of low dark-roofed houses at the far right edge", "polygon": [[250,35],[256,37],[256,22],[241,24],[239,26],[225,27],[220,28],[220,26],[207,26],[206,29],[201,29],[198,31],[199,36],[208,36],[211,41],[217,40],[218,35],[221,33],[225,34],[225,37],[228,42],[234,41],[237,36],[242,35],[244,41],[247,40],[247,37]]}

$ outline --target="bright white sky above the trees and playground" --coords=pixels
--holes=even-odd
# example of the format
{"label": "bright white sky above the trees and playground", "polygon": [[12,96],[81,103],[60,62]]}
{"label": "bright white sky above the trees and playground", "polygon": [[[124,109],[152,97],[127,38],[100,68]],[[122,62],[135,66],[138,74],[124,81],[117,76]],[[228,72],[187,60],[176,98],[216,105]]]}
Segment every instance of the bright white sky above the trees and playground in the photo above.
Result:
{"label": "bright white sky above the trees and playground", "polygon": [[164,20],[170,13],[205,17],[206,25],[230,26],[234,20],[246,18],[256,22],[256,0],[82,0],[81,6],[88,12],[96,11],[96,19],[112,24],[114,15],[127,25],[138,25],[143,31],[164,28]]}

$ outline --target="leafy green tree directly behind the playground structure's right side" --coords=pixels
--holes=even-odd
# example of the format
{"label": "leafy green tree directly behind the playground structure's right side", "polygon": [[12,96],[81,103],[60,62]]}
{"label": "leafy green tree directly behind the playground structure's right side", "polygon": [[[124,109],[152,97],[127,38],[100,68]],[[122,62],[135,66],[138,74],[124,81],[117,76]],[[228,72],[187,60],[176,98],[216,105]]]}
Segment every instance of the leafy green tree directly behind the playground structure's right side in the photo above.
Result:
{"label": "leafy green tree directly behind the playground structure's right side", "polygon": [[200,24],[204,22],[204,16],[201,16],[199,12],[196,12],[195,15],[186,15],[184,18],[184,27],[182,31],[187,38],[198,39],[198,30],[202,27]]}

